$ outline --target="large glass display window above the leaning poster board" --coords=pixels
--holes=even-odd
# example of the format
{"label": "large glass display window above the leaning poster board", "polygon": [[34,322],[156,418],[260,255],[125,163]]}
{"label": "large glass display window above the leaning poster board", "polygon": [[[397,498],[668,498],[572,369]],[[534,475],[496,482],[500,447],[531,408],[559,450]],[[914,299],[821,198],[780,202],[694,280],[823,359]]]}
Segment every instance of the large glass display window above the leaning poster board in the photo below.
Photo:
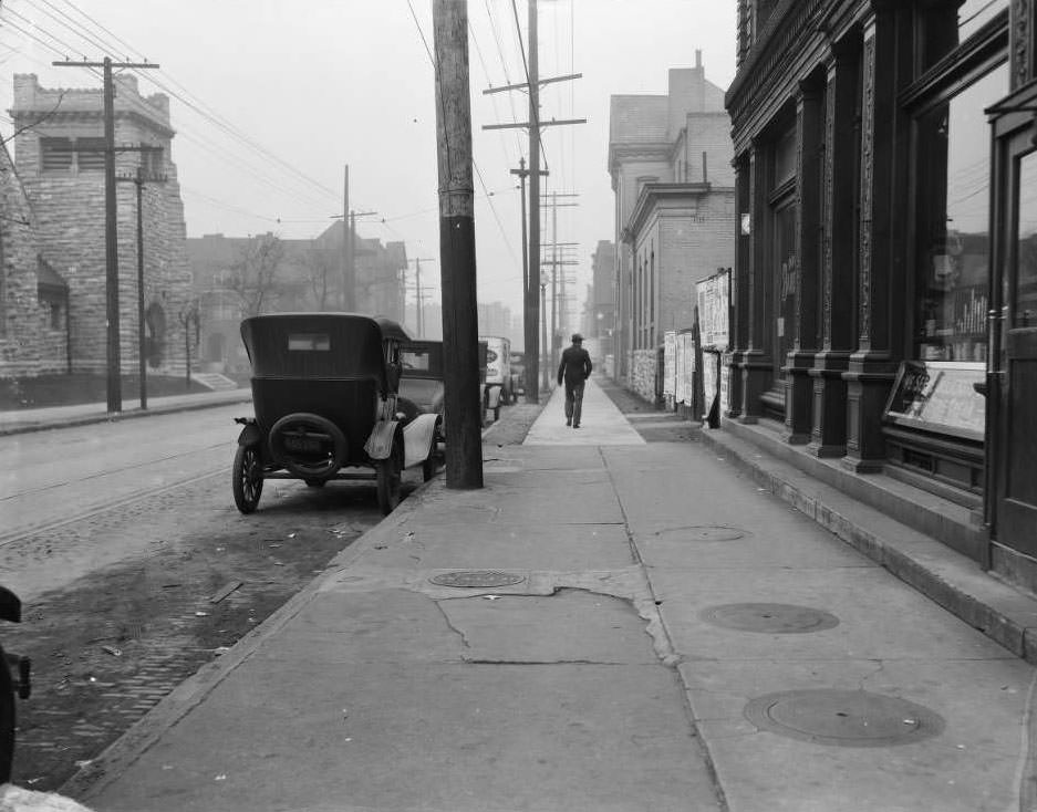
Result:
{"label": "large glass display window above the leaning poster board", "polygon": [[986,356],[991,131],[984,108],[1008,92],[1002,65],[917,119],[915,357]]}

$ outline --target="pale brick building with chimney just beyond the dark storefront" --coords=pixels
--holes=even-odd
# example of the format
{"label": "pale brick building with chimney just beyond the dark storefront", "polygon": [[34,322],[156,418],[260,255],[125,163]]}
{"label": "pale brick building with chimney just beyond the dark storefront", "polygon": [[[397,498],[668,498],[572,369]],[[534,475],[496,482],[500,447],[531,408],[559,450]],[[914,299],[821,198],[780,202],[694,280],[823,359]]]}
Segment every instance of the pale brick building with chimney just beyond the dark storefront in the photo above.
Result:
{"label": "pale brick building with chimney just beyond the dark storefront", "polygon": [[609,173],[615,192],[616,378],[654,400],[667,330],[691,327],[695,283],[735,251],[735,176],[724,91],[672,69],[666,95],[612,96]]}

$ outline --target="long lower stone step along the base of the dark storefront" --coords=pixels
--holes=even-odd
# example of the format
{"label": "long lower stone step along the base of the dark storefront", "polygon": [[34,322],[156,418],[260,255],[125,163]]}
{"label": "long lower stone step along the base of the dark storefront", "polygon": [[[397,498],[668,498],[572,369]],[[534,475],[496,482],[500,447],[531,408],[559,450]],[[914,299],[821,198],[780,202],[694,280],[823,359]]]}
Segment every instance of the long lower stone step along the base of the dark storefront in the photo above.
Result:
{"label": "long lower stone step along the base of the dark storefront", "polygon": [[757,446],[703,428],[703,443],[764,490],[813,519],[904,583],[1037,665],[1037,600],[984,572],[971,559],[776,460]]}

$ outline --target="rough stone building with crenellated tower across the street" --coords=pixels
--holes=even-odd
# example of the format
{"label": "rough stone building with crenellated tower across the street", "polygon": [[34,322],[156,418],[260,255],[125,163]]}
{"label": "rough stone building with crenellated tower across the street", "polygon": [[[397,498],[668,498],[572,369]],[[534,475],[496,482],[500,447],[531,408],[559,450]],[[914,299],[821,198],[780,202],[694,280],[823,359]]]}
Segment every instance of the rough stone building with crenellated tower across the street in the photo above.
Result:
{"label": "rough stone building with crenellated tower across the street", "polygon": [[[14,166],[32,210],[39,257],[45,269],[50,331],[65,335],[65,371],[102,373],[107,368],[106,261],[104,207],[103,92],[41,87],[34,74],[15,74],[10,111],[18,135]],[[170,146],[174,131],[165,95],[142,96],[136,77],[115,79],[116,174],[143,170],[143,295],[146,355],[155,374],[183,374],[184,327],[190,305],[190,274],[185,246],[184,205]],[[147,147],[123,149],[120,147]],[[163,183],[157,183],[163,178]],[[123,374],[138,368],[137,202],[132,183],[117,184],[120,354]],[[35,262],[35,260],[32,260]],[[24,271],[22,272],[24,278]],[[18,284],[8,278],[8,284]],[[64,282],[66,311],[58,291]],[[23,301],[20,304],[24,304]],[[13,303],[7,301],[7,319]],[[20,306],[19,306],[20,310]],[[46,331],[39,335],[44,335]],[[33,344],[58,343],[56,335]],[[40,355],[33,361],[33,355]],[[60,353],[58,353],[60,355]],[[50,358],[46,361],[43,356]],[[7,360],[14,374],[53,371],[55,350],[14,352]],[[7,358],[7,356],[6,356]]]}

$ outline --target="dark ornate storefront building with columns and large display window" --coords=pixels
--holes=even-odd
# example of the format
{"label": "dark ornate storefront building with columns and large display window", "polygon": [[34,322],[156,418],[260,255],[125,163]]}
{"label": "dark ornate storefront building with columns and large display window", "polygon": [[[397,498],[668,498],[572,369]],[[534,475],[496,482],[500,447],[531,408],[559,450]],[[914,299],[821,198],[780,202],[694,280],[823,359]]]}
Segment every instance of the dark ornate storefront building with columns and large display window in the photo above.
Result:
{"label": "dark ornate storefront building with columns and large display window", "polygon": [[1034,0],[740,0],[728,430],[1037,585]]}

